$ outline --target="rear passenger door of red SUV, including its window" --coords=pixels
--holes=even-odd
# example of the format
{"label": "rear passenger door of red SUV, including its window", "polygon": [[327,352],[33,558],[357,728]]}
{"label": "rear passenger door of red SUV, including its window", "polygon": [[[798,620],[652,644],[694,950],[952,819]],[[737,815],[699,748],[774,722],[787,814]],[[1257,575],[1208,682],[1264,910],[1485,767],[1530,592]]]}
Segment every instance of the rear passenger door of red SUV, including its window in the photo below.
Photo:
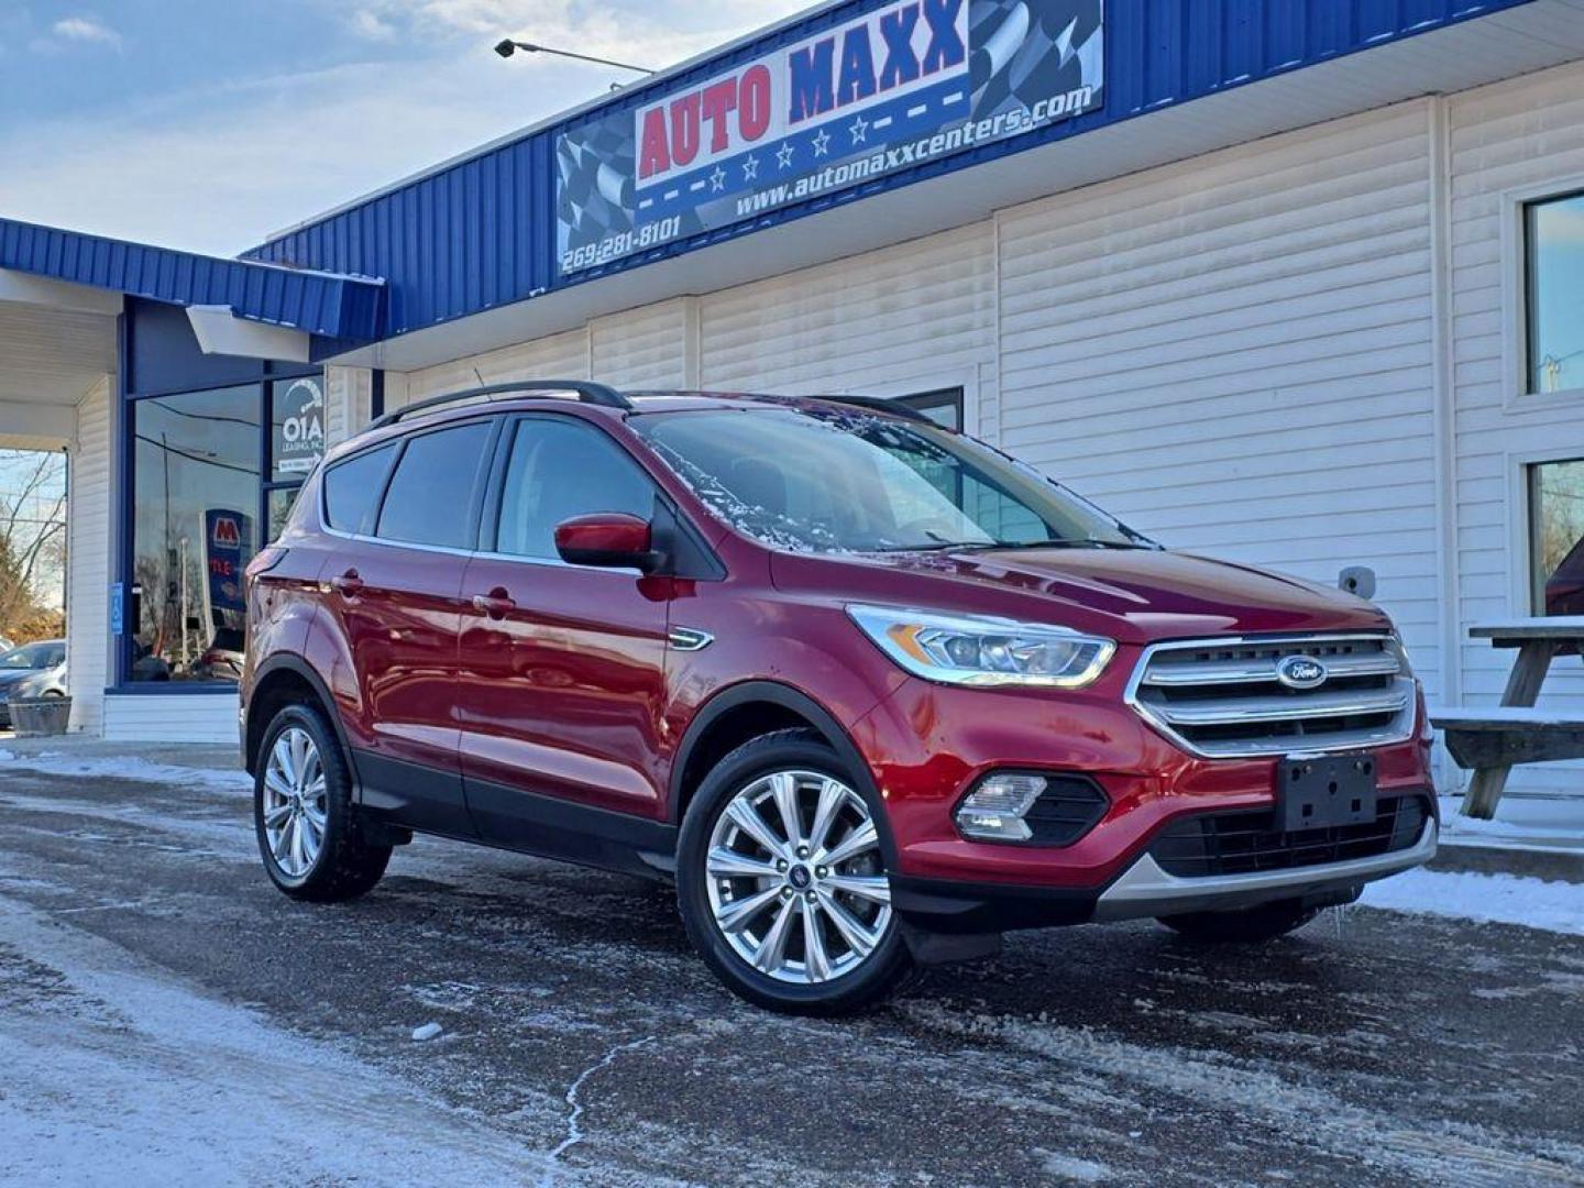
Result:
{"label": "rear passenger door of red SUV, including its window", "polygon": [[[341,467],[326,474],[326,516],[342,546],[322,578],[341,637],[333,687],[364,803],[442,833],[470,832],[456,648],[494,434],[496,421],[482,418],[404,439],[385,463],[383,496],[367,508],[352,493],[358,475],[337,485]],[[366,469],[377,474],[379,459],[369,458]],[[337,526],[342,499],[350,504]]]}

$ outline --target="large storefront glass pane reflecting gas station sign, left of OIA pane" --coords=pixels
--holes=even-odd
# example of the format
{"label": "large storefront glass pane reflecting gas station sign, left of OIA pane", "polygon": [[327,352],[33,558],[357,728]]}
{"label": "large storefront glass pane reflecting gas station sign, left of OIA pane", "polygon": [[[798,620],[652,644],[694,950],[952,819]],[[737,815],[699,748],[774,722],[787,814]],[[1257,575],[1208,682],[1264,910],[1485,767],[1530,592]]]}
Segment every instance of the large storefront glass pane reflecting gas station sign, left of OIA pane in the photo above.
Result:
{"label": "large storefront glass pane reflecting gas station sign, left of OIA pane", "polygon": [[234,681],[258,548],[260,385],[136,401],[133,681]]}

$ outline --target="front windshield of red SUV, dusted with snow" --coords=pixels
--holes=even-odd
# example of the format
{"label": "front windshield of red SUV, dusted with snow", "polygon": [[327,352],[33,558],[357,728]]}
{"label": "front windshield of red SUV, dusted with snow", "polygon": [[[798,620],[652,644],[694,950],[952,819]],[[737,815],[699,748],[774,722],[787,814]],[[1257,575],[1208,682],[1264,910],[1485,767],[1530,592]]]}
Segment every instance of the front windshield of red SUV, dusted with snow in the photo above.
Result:
{"label": "front windshield of red SUV, dusted with snow", "polygon": [[800,409],[630,425],[716,515],[771,548],[1152,546],[1033,467],[930,425]]}

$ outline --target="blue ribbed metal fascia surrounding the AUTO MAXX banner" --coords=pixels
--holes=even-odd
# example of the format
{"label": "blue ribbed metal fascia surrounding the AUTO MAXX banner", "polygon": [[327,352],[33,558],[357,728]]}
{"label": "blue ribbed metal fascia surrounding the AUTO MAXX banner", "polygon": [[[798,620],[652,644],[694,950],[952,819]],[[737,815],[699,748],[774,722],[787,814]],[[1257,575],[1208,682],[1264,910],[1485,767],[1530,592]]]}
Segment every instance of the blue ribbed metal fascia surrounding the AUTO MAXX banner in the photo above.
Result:
{"label": "blue ribbed metal fascia surrounding the AUTO MAXX banner", "polygon": [[1529,3],[1533,0],[1107,0],[1099,109],[573,277],[558,276],[559,135],[613,111],[645,106],[874,6],[873,0],[844,0],[288,231],[246,258],[385,277],[390,304],[383,333],[394,337]]}

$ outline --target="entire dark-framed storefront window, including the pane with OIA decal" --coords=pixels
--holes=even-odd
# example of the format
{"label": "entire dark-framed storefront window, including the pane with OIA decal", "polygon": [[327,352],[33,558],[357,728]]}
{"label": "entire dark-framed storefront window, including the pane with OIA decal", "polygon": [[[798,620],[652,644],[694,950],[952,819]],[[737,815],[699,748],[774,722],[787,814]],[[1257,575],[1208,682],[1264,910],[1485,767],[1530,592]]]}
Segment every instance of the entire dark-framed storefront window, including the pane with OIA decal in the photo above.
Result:
{"label": "entire dark-framed storefront window, including the pane with OIA decal", "polygon": [[241,676],[242,572],[325,455],[323,375],[135,398],[124,678]]}

